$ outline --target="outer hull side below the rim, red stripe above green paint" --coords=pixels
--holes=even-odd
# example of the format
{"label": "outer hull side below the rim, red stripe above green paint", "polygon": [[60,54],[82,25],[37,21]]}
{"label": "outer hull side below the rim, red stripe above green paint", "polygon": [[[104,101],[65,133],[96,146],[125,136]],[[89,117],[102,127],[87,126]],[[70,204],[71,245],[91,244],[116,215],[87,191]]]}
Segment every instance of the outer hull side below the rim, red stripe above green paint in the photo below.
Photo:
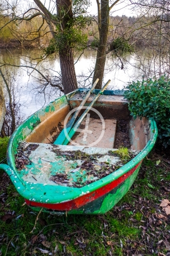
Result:
{"label": "outer hull side below the rim, red stripe above green paint", "polygon": [[36,211],[54,214],[104,214],[119,202],[134,183],[142,161],[117,180],[72,201],[50,204],[25,200]]}

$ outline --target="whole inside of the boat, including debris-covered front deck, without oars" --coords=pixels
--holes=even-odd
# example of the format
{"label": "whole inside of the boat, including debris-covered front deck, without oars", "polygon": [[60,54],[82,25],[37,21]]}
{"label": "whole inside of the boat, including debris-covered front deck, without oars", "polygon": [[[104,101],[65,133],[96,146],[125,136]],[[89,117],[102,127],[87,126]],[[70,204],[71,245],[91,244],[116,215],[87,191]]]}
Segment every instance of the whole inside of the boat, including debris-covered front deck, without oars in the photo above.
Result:
{"label": "whole inside of the boat, including debris-covered front deck, without oars", "polygon": [[[97,93],[98,90],[95,91]],[[94,96],[89,97],[85,106],[90,104]],[[148,120],[132,119],[124,96],[119,93],[115,95],[114,91],[104,91],[93,105],[101,116],[90,110],[68,146],[53,145],[69,111],[78,107],[84,97],[85,89],[65,95],[38,110],[27,119],[24,128],[20,126],[15,139],[19,140],[21,133],[24,139],[13,152],[17,172],[25,182],[55,183],[76,188],[88,185],[125,164],[116,154],[115,145],[118,145],[120,137],[119,146],[126,146],[123,141],[128,141],[131,159],[151,139]],[[123,131],[119,125],[122,120]],[[102,131],[102,137],[98,139]]]}

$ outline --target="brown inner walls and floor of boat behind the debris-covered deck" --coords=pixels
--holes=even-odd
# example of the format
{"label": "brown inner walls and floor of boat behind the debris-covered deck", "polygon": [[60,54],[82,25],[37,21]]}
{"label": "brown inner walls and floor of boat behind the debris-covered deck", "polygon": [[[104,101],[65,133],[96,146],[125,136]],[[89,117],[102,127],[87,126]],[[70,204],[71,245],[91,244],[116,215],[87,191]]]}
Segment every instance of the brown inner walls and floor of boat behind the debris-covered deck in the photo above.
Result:
{"label": "brown inner walls and floor of boat behind the debris-covered deck", "polygon": [[[64,128],[64,120],[69,111],[77,108],[83,101],[85,96],[84,92],[85,91],[80,91],[70,95],[70,97],[68,95],[65,104],[59,105],[55,111],[43,113],[43,115],[40,116],[38,125],[35,124],[36,127],[34,130],[26,137],[26,142],[53,144],[60,131]],[[85,106],[89,106],[94,96],[95,95],[91,95],[89,97]],[[90,110],[88,114],[88,124],[86,116],[79,127],[81,131],[76,132],[72,138],[72,143],[70,142],[68,145],[94,145],[95,147],[115,148],[115,139],[120,120],[124,120],[126,125],[126,131],[124,129],[123,132],[124,137],[129,141],[129,146],[127,146],[129,149],[142,150],[150,139],[148,137],[148,120],[145,118],[132,119],[128,110],[127,101],[124,99],[123,95],[101,95],[98,101],[94,103],[93,109],[97,110],[101,116],[99,117],[98,113],[94,112],[94,110]],[[83,111],[84,110],[79,113],[79,116],[81,116]],[[69,118],[71,118],[71,116]],[[88,131],[85,134],[83,130],[86,125],[88,125],[88,127],[86,127]],[[102,139],[96,143],[102,130],[104,130]],[[122,142],[119,146],[126,145]]]}

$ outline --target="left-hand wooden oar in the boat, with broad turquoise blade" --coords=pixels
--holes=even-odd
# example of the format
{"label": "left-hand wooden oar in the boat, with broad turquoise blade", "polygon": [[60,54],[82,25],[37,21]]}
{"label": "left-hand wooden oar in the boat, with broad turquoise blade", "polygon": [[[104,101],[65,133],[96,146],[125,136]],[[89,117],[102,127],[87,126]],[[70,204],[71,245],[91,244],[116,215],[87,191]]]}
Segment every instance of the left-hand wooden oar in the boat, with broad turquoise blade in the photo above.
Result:
{"label": "left-hand wooden oar in the boat, with broad turquoise blade", "polygon": [[[77,108],[76,112],[74,113],[73,117],[69,120],[69,122],[67,123],[67,126],[65,129],[65,131],[67,132],[66,134],[69,133],[69,131],[71,130],[71,128],[74,125],[74,122],[78,116],[78,114],[80,113],[80,111],[82,110],[82,107],[85,105],[85,102],[87,101],[87,99],[90,96],[90,93],[94,90],[97,82],[99,81],[99,79],[97,78],[96,81],[93,83],[92,88],[87,92],[85,99],[81,102],[80,106]],[[64,133],[64,129],[62,129],[62,131],[60,132],[59,136],[56,138],[56,140],[54,141],[53,144],[58,144],[58,145],[62,145],[66,136]]]}

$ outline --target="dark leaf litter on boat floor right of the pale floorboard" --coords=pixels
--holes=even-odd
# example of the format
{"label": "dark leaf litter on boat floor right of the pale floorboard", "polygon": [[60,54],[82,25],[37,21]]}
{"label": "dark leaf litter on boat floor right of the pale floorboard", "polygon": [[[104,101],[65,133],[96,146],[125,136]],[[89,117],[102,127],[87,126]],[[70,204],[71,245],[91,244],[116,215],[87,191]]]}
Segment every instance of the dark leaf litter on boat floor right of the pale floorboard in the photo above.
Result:
{"label": "dark leaf litter on boat floor right of the pale floorboard", "polygon": [[117,120],[117,130],[114,148],[119,148],[120,146],[125,146],[130,148],[129,140],[129,121],[128,120]]}

